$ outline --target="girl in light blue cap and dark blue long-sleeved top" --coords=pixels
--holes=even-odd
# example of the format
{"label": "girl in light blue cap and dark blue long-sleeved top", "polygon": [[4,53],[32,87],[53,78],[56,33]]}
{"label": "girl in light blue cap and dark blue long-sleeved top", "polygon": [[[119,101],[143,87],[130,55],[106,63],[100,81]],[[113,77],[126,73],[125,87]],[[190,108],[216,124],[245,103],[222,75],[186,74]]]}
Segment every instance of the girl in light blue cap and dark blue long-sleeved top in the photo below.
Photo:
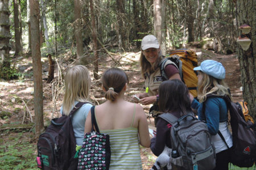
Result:
{"label": "girl in light blue cap and dark blue long-sleeved top", "polygon": [[[205,121],[216,148],[216,168],[227,169],[230,158],[229,148],[233,146],[232,135],[228,129],[228,107],[220,96],[230,97],[228,86],[224,82],[225,68],[220,62],[207,59],[194,68],[198,77],[198,99],[192,100],[192,108],[197,109],[199,120]],[[207,97],[216,95],[218,97]],[[220,134],[221,133],[221,134]],[[221,139],[220,135],[225,139]],[[229,146],[229,148],[227,147]]]}

